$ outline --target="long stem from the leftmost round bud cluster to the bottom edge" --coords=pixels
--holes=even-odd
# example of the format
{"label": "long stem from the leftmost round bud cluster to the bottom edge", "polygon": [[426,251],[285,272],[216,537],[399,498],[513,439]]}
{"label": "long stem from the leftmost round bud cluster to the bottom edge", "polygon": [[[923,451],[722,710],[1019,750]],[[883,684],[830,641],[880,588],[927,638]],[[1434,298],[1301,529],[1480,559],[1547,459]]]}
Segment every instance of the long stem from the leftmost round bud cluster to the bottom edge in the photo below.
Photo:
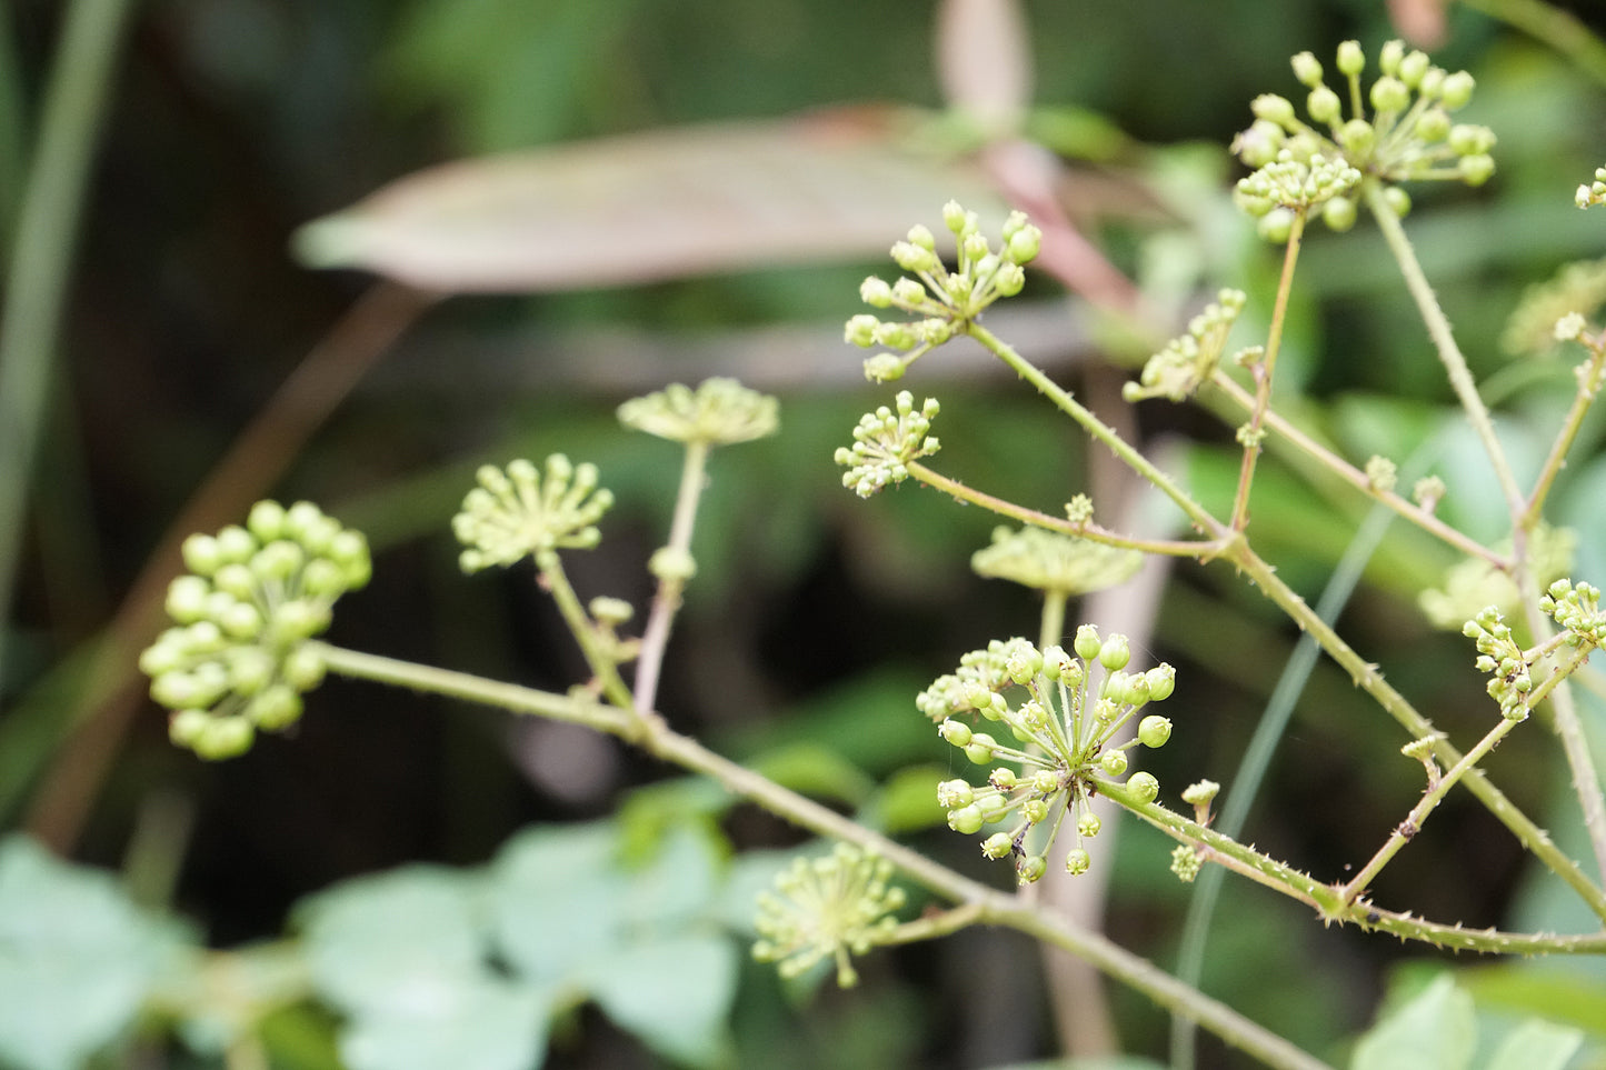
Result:
{"label": "long stem from the leftmost round bud cluster to the bottom edge", "polygon": [[[1179,982],[1147,959],[1132,954],[1103,935],[1076,925],[1066,917],[1023,906],[1015,895],[989,888],[952,869],[909,850],[856,821],[798,795],[774,781],[724,758],[695,739],[671,731],[660,718],[638,718],[585,694],[552,694],[483,680],[429,665],[416,665],[374,654],[361,654],[323,643],[313,644],[334,673],[389,683],[414,691],[445,694],[469,702],[493,705],[514,713],[536,713],[560,721],[588,725],[641,745],[654,757],[692,773],[718,781],[732,795],[747,798],[787,821],[875,853],[901,869],[927,890],[960,905],[967,913],[954,922],[975,921],[1005,925],[1081,956],[1110,977],[1137,990],[1156,1006],[1198,1022],[1227,1044],[1245,1051],[1269,1067],[1286,1070],[1330,1070],[1315,1056],[1302,1051],[1277,1033],[1243,1017],[1232,1007],[1211,999],[1196,988]],[[933,930],[941,927],[933,924]],[[956,924],[957,929],[957,924]],[[933,935],[935,935],[933,932]]]}

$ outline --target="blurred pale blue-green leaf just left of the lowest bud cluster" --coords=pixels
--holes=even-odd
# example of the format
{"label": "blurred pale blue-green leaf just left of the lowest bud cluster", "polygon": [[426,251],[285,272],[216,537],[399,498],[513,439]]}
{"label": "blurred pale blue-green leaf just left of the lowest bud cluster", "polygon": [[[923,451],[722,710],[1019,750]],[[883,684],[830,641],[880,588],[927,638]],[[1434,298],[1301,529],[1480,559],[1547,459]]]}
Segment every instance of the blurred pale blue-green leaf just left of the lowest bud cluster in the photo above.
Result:
{"label": "blurred pale blue-green leaf just left of the lowest bud cluster", "polygon": [[726,1059],[739,958],[729,937],[687,933],[599,956],[591,994],[615,1023],[676,1062]]}

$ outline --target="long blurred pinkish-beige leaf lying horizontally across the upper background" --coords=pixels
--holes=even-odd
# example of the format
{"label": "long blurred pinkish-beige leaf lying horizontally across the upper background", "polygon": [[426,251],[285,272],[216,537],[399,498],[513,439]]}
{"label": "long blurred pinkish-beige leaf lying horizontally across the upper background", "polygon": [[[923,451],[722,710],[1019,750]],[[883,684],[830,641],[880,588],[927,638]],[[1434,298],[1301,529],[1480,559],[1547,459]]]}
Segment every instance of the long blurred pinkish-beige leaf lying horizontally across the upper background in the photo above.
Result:
{"label": "long blurred pinkish-beige leaf lying horizontally across the upper background", "polygon": [[312,267],[430,291],[530,292],[880,255],[949,198],[996,214],[968,167],[888,127],[832,114],[459,161],[305,225],[294,246]]}

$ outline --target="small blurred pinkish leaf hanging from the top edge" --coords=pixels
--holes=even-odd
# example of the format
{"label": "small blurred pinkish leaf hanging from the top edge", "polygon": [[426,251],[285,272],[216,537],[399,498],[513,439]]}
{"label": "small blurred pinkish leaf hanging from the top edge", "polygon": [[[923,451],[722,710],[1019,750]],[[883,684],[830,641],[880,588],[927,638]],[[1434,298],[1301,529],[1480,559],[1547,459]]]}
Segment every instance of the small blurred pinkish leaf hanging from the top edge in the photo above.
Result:
{"label": "small blurred pinkish leaf hanging from the top edge", "polygon": [[936,22],[943,95],[983,122],[1018,120],[1031,103],[1031,48],[1018,0],[944,0]]}

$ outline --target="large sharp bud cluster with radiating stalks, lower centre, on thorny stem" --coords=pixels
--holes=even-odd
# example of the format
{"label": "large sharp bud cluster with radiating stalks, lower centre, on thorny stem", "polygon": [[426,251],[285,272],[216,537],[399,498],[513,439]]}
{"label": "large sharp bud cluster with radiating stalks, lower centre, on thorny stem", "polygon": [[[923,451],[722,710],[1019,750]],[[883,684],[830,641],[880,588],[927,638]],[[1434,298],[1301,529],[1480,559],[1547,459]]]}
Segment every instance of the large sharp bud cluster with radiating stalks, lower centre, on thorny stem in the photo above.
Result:
{"label": "large sharp bud cluster with radiating stalks, lower centre, on thorny stem", "polygon": [[[956,673],[940,676],[915,699],[920,712],[938,721],[944,741],[972,763],[991,766],[981,786],[965,779],[938,784],[948,826],[965,835],[1005,826],[981,840],[981,853],[1012,858],[1020,884],[1047,872],[1047,855],[1066,815],[1074,815],[1076,847],[1066,853],[1065,869],[1087,872],[1086,840],[1100,829],[1092,797],[1126,776],[1129,750],[1161,747],[1171,737],[1171,721],[1150,713],[1132,739],[1113,742],[1140,710],[1176,688],[1176,670],[1166,664],[1123,672],[1131,657],[1126,636],[1100,638],[1092,625],[1076,630],[1071,651],[1039,651],[1020,638],[994,641],[967,654]],[[1097,681],[1095,665],[1102,670]],[[1012,694],[1020,697],[1012,702]],[[1010,741],[980,731],[981,721],[1007,728]],[[1160,782],[1147,771],[1132,773],[1124,786],[1139,802],[1160,797]],[[1037,829],[1046,832],[1034,835]]]}

